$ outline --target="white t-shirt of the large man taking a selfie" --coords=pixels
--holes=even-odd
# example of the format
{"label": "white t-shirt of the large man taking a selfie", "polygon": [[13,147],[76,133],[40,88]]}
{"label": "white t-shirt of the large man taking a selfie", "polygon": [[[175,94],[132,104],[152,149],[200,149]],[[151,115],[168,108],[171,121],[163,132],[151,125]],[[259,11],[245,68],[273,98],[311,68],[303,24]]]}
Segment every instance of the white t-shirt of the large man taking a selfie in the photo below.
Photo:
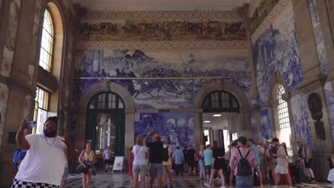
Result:
{"label": "white t-shirt of the large man taking a selfie", "polygon": [[15,178],[24,182],[60,186],[67,162],[67,147],[61,141],[64,138],[33,134],[27,135],[26,140],[30,147]]}

